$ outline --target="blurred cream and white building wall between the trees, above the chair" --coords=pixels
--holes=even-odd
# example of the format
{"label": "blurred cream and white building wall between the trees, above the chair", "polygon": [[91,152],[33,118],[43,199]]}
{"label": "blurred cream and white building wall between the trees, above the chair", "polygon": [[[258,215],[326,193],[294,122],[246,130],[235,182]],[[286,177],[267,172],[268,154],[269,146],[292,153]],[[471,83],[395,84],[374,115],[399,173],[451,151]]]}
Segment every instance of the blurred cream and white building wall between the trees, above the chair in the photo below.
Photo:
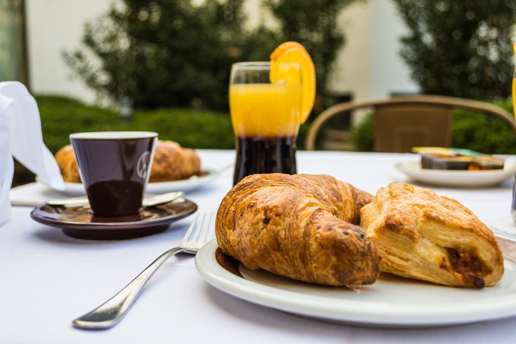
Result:
{"label": "blurred cream and white building wall between the trees, above the chair", "polygon": [[391,0],[356,2],[340,15],[346,45],[338,53],[330,88],[353,100],[417,92],[399,56],[405,25]]}

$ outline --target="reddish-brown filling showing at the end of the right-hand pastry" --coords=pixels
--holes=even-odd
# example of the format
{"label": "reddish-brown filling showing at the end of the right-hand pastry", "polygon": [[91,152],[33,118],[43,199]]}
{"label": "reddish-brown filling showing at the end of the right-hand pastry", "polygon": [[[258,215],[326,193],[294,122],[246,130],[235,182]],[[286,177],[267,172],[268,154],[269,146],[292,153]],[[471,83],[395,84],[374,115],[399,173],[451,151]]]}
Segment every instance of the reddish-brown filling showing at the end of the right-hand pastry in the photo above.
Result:
{"label": "reddish-brown filling showing at the end of the right-hand pastry", "polygon": [[451,267],[462,276],[462,282],[471,283],[478,289],[485,286],[483,276],[489,275],[492,271],[473,251],[468,249],[458,251],[451,247],[446,247],[446,251]]}

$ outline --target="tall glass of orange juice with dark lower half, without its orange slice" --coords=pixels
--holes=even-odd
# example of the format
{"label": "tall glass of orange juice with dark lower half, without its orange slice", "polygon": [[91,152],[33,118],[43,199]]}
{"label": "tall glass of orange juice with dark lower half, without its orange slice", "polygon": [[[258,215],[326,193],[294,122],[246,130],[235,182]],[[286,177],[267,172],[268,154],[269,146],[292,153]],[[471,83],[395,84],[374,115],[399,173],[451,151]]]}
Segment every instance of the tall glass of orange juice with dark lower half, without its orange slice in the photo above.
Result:
{"label": "tall glass of orange juice with dark lower half, without its orange slice", "polygon": [[285,78],[270,82],[270,62],[232,66],[229,86],[235,132],[233,183],[256,173],[296,173],[296,139],[301,122],[301,67],[275,65]]}

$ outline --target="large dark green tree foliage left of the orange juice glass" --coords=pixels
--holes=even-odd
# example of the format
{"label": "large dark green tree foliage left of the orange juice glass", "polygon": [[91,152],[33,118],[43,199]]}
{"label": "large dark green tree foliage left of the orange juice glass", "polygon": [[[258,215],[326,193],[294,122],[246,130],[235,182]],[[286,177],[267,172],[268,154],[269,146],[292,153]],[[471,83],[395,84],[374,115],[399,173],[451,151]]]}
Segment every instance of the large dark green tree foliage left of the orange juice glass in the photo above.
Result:
{"label": "large dark green tree foliage left of the orange juice glass", "polygon": [[[220,108],[219,93],[240,57],[242,3],[124,0],[125,6],[87,24],[85,49],[65,58],[89,86],[115,101]],[[98,57],[99,67],[86,52]]]}

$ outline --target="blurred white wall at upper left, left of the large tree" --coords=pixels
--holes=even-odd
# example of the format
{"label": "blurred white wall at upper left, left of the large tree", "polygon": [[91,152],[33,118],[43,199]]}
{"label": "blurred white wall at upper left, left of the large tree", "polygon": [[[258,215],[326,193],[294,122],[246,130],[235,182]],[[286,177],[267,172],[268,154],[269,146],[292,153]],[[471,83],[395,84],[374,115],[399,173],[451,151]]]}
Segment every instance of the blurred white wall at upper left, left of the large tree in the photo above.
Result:
{"label": "blurred white wall at upper left, left of the large tree", "polygon": [[109,0],[26,0],[28,64],[34,93],[59,93],[95,100],[63,60],[63,50],[79,46],[88,20],[106,12]]}

